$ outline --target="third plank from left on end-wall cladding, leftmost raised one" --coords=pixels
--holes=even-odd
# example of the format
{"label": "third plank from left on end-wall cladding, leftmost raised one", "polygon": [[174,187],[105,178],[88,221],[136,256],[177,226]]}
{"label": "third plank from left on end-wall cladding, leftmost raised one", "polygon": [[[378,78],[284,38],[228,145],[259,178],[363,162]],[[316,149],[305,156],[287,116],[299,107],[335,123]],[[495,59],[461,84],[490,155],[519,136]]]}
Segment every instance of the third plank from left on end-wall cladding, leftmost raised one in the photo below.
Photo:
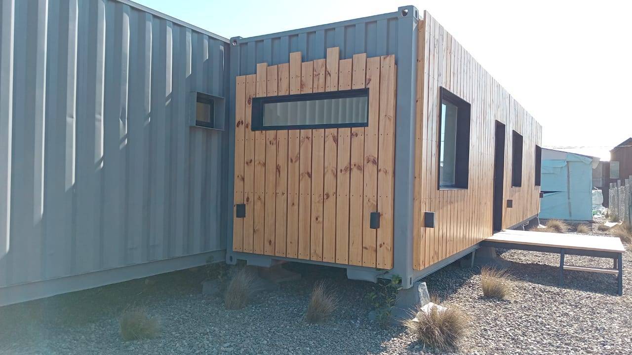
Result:
{"label": "third plank from left on end-wall cladding, leftmost raised one", "polygon": [[[267,63],[257,64],[257,97],[267,95]],[[265,228],[265,131],[255,131],[255,218],[253,253],[264,253]]]}

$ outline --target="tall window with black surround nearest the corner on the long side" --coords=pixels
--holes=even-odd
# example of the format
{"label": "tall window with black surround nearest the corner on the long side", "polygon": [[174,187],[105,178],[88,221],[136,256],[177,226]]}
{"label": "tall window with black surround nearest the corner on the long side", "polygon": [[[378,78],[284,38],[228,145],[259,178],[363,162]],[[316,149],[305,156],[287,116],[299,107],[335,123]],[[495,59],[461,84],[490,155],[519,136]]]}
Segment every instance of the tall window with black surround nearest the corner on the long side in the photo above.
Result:
{"label": "tall window with black surround nearest the corner on the long side", "polygon": [[441,88],[439,189],[468,188],[470,104]]}

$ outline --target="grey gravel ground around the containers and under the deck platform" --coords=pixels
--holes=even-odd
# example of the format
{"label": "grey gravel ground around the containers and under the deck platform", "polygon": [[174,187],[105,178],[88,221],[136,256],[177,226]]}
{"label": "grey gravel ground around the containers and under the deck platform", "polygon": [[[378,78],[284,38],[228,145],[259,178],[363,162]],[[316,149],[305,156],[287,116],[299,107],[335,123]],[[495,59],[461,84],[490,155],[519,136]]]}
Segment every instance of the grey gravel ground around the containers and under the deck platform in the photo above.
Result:
{"label": "grey gravel ground around the containers and under the deck platform", "polygon": [[[559,255],[499,250],[511,263],[514,292],[485,299],[480,270],[449,265],[428,289],[473,318],[459,354],[631,354],[632,277],[624,296],[612,275],[567,272],[557,287]],[[567,256],[573,265],[612,267],[611,260]],[[372,284],[346,280],[336,268],[289,265],[303,279],[258,295],[243,310],[202,296],[204,272],[174,272],[0,308],[0,354],[427,354],[402,327],[368,322],[363,301]],[[624,271],[632,270],[632,252]],[[313,283],[328,279],[341,308],[323,325],[302,319]],[[151,340],[123,342],[117,316],[140,304],[161,320]]]}

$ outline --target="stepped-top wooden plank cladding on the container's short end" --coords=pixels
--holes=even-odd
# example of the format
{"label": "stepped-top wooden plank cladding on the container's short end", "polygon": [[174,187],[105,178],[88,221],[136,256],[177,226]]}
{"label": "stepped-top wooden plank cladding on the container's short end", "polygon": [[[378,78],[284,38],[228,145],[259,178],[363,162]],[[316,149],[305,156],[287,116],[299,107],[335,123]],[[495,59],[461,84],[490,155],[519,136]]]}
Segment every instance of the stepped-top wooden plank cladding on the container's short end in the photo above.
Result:
{"label": "stepped-top wooden plank cladding on the container's short end", "polygon": [[[395,58],[339,56],[293,52],[236,78],[234,251],[392,268]],[[352,88],[369,90],[367,127],[252,131],[253,97]]]}

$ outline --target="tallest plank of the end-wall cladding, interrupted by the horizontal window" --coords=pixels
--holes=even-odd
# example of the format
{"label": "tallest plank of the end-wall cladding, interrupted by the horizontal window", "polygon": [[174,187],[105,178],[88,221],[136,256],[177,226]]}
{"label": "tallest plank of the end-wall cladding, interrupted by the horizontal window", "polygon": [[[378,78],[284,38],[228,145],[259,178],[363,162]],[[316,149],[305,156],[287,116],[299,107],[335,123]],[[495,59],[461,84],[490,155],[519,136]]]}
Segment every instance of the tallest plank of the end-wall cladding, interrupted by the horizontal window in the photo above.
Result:
{"label": "tallest plank of the end-wall cladding, interrupted by the horizontal window", "polygon": [[[338,47],[327,49],[325,91],[338,90]],[[323,171],[323,254],[322,261],[336,262],[336,176],[338,129],[325,129]]]}

